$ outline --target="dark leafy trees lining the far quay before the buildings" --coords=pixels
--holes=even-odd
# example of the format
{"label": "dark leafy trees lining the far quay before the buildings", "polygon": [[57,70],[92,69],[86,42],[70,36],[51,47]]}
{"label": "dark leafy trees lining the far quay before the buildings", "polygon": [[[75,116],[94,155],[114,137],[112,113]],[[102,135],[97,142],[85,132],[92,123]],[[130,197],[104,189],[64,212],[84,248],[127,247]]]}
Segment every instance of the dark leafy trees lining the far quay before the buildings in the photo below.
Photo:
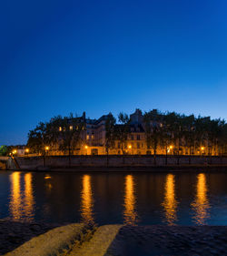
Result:
{"label": "dark leafy trees lining the far quay before the buildings", "polygon": [[[210,117],[195,117],[182,115],[176,112],[161,112],[153,109],[143,114],[143,129],[146,148],[154,156],[158,148],[163,148],[167,155],[173,145],[173,153],[181,155],[183,148],[187,148],[188,155],[196,150],[211,155],[222,155],[226,152],[227,124],[221,119]],[[131,134],[131,119],[121,112],[118,118],[110,113],[105,118],[105,151],[115,148],[118,141],[123,155],[127,153],[127,140]],[[54,117],[49,122],[39,123],[28,134],[27,147],[36,153],[45,154],[45,145],[57,145],[60,150],[68,154],[69,159],[73,150],[79,150],[83,143],[82,132],[86,129],[84,118]]]}

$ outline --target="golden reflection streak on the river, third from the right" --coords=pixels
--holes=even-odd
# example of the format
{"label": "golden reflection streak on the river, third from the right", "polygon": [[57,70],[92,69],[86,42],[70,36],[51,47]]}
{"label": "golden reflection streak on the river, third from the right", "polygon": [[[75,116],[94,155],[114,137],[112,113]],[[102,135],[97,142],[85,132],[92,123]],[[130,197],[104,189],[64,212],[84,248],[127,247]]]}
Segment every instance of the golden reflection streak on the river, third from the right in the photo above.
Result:
{"label": "golden reflection streak on the river, third from the right", "polygon": [[135,192],[133,176],[127,175],[125,177],[125,194],[123,204],[123,219],[125,224],[135,225],[137,222],[134,193]]}

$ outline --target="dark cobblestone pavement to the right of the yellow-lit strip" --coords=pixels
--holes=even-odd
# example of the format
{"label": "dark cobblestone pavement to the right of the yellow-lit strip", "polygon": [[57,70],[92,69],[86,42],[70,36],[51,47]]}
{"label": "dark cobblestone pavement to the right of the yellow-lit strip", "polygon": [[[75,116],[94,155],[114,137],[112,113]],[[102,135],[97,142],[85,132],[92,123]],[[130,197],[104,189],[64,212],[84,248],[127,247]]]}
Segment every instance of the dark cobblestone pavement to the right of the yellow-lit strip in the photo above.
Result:
{"label": "dark cobblestone pavement to the right of the yellow-lit strip", "polygon": [[227,255],[227,227],[123,226],[105,256],[135,255]]}

